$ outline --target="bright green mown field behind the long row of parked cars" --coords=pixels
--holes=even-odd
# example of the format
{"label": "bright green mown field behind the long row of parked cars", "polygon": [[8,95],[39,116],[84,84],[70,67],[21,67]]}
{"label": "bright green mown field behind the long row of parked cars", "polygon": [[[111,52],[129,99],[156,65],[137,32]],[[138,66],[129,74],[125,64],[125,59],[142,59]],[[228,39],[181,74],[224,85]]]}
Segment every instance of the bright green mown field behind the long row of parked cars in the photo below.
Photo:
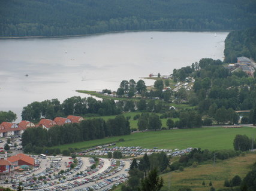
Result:
{"label": "bright green mown field behind the long row of parked cars", "polygon": [[236,134],[246,134],[248,137],[251,137],[252,134],[256,134],[256,128],[243,127],[228,129],[222,127],[207,127],[183,130],[148,131],[99,140],[64,144],[55,147],[59,147],[61,150],[71,147],[82,149],[97,146],[99,144],[113,143],[120,138],[124,138],[125,141],[117,143],[117,146],[158,147],[160,149],[185,149],[187,147],[200,147],[201,149],[209,150],[233,149],[233,140]]}

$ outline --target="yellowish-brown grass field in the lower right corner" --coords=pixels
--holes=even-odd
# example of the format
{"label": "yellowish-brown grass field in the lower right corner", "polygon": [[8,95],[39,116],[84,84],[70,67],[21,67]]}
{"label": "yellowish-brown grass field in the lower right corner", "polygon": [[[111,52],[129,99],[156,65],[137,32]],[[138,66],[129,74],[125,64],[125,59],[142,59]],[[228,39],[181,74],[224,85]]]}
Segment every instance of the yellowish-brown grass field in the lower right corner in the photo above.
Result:
{"label": "yellowish-brown grass field in the lower right corner", "polygon": [[[194,191],[208,191],[210,181],[216,190],[224,189],[225,179],[231,180],[235,175],[245,177],[255,161],[256,153],[254,152],[225,161],[217,161],[215,167],[211,162],[198,165],[196,168],[184,168],[182,172],[179,170],[168,172],[161,175],[164,178],[164,187],[161,191],[177,191],[181,187],[190,187]],[[205,186],[202,185],[203,181],[206,183]]]}

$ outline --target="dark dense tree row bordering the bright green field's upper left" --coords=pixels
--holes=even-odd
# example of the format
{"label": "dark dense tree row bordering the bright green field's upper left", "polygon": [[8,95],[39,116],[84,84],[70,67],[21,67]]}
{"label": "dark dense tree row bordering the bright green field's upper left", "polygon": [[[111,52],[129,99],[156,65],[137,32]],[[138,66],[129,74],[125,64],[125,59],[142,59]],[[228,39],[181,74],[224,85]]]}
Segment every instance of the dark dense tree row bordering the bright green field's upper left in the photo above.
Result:
{"label": "dark dense tree row bordering the bright green field's upper left", "polygon": [[[56,125],[49,130],[27,128],[22,134],[24,152],[48,153],[52,146],[130,134],[129,121],[123,115],[115,119],[87,119],[79,124]],[[53,151],[54,152],[54,151]]]}

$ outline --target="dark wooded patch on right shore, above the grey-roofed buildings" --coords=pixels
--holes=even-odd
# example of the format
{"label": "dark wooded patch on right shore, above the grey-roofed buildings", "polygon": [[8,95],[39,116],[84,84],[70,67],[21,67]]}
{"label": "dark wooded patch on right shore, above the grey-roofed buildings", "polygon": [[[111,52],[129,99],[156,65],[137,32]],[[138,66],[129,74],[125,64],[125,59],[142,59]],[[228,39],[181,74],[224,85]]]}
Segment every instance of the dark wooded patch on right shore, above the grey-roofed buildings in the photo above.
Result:
{"label": "dark wooded patch on right shore, above the grey-roofed buildings", "polygon": [[226,63],[236,63],[240,56],[256,60],[256,26],[230,32],[225,39],[224,55]]}

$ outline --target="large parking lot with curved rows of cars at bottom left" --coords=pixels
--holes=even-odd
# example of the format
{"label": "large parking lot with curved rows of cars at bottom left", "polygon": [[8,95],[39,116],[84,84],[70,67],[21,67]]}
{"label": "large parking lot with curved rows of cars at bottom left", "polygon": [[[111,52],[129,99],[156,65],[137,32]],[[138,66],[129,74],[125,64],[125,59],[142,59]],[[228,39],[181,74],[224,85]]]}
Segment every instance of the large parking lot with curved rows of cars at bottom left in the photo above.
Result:
{"label": "large parking lot with curved rows of cars at bottom left", "polygon": [[128,177],[126,168],[130,161],[117,161],[115,159],[100,159],[95,164],[92,158],[79,157],[77,165],[72,170],[67,167],[73,162],[70,157],[62,157],[61,161],[53,162],[52,156],[41,159],[34,156],[40,167],[25,172],[14,172],[8,178],[9,182],[0,181],[4,187],[17,188],[20,183],[24,190],[108,190],[113,184],[126,181]]}

